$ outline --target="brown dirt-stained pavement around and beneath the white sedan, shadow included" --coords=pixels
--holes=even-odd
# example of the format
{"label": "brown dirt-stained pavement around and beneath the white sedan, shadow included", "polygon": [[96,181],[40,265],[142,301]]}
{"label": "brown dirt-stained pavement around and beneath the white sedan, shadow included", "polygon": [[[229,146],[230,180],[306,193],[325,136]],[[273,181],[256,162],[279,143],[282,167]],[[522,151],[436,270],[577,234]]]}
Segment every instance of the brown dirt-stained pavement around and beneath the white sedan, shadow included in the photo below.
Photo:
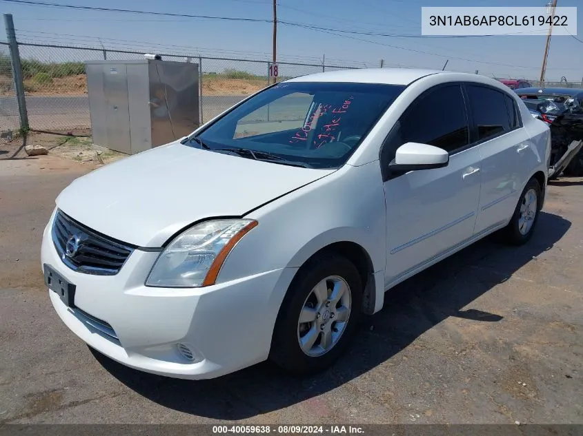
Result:
{"label": "brown dirt-stained pavement around and beneath the white sedan, shadow included", "polygon": [[583,424],[583,179],[549,187],[528,245],[486,238],[393,289],[330,371],[295,379],[259,364],[190,382],[92,353],[61,323],[41,233],[91,167],[3,157],[0,424]]}

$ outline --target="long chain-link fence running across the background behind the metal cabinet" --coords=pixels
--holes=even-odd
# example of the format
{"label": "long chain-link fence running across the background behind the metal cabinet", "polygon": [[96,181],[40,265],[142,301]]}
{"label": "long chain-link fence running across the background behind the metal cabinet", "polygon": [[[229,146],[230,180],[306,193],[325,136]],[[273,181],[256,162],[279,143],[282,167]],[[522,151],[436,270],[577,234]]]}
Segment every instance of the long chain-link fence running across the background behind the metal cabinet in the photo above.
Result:
{"label": "long chain-link fence running across the background behind the metal cabinet", "polygon": [[[48,132],[79,132],[91,127],[85,62],[97,60],[131,61],[144,59],[144,52],[103,48],[77,48],[20,42],[23,84],[26,94],[29,125],[32,130]],[[199,64],[199,116],[201,122],[221,114],[250,94],[273,83],[270,62],[227,59],[208,56],[160,53],[168,61]],[[277,81],[297,76],[363,68],[375,65],[325,65],[279,61]],[[540,86],[539,81],[531,81]],[[545,82],[546,87],[582,87],[582,83]],[[266,114],[277,119],[278,110]],[[279,114],[281,115],[281,114]],[[276,117],[276,118],[273,118]],[[19,128],[19,111],[14,92],[12,64],[7,43],[0,42],[0,132]]]}

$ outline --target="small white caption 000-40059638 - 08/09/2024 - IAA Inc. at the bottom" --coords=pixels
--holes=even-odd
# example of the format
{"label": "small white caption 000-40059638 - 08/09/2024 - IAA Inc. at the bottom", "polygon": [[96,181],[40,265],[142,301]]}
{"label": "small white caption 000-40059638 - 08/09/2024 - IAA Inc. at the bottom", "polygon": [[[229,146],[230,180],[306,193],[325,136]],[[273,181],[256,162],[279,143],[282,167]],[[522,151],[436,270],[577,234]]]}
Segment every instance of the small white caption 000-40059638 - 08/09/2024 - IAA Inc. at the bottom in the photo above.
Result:
{"label": "small white caption 000-40059638 - 08/09/2024 - IAA Inc. at the bottom", "polygon": [[266,434],[274,433],[277,435],[308,435],[308,434],[364,434],[364,430],[359,426],[213,426],[213,434],[228,435],[233,433],[239,434]]}

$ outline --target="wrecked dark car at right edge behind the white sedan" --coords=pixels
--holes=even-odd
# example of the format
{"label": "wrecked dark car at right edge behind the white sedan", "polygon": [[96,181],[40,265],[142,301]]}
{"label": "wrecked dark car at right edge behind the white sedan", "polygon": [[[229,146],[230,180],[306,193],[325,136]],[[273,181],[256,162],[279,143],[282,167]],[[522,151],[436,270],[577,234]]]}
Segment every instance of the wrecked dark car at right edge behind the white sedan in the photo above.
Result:
{"label": "wrecked dark car at right edge behind the white sedan", "polygon": [[[551,127],[551,165],[573,141],[583,140],[583,89],[531,87],[515,92],[535,118]],[[583,149],[571,158],[564,174],[583,176]]]}

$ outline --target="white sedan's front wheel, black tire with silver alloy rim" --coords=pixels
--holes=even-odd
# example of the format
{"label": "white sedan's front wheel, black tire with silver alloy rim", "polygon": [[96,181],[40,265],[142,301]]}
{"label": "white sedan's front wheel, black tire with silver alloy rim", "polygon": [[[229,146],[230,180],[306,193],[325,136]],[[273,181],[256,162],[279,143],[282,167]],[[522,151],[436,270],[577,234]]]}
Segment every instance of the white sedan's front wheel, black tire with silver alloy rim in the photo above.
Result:
{"label": "white sedan's front wheel, black tire with silver alloy rim", "polygon": [[294,278],[281,303],[270,360],[297,375],[331,366],[350,342],[362,304],[362,280],[350,260],[319,253]]}

